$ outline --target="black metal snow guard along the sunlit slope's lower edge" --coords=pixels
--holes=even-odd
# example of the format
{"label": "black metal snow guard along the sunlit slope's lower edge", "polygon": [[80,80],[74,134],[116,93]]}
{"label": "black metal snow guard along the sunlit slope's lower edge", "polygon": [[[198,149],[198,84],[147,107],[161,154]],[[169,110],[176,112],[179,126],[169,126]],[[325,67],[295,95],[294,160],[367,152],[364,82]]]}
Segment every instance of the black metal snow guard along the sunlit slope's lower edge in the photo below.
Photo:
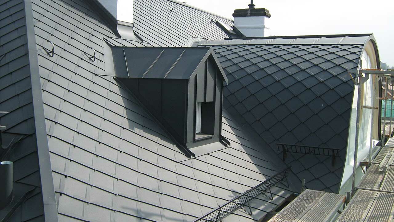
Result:
{"label": "black metal snow guard along the sunlit slope's lower edge", "polygon": [[[234,211],[238,209],[242,209],[245,211],[247,214],[252,215],[252,211],[250,208],[250,205],[247,205],[249,201],[252,199],[255,199],[258,195],[263,194],[267,198],[273,200],[272,192],[271,192],[271,186],[274,186],[278,182],[282,183],[284,186],[288,186],[288,181],[287,181],[287,175],[289,173],[289,168],[285,169],[284,171],[275,174],[273,177],[270,177],[266,181],[258,184],[257,186],[251,188],[250,190],[247,190],[243,194],[240,194],[240,196],[237,196],[235,198],[230,199],[223,205],[220,205],[216,209],[213,209],[209,213],[197,218],[194,220],[194,222],[216,222],[216,221],[222,221],[221,219],[224,218],[225,216],[228,216],[229,214],[233,213]],[[286,181],[286,184],[283,182]],[[271,197],[269,197],[266,193],[269,192]],[[249,212],[247,212],[244,207],[247,205],[249,207]]]}

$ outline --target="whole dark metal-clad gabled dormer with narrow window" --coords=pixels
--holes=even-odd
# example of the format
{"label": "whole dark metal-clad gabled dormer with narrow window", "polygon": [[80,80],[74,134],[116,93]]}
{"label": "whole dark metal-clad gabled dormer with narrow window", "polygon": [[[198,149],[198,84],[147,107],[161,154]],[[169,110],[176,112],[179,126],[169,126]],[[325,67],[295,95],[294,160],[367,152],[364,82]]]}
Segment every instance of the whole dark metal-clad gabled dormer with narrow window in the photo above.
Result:
{"label": "whole dark metal-clad gabled dormer with narrow window", "polygon": [[227,77],[212,49],[111,47],[111,52],[117,79],[187,156],[226,145],[221,115]]}

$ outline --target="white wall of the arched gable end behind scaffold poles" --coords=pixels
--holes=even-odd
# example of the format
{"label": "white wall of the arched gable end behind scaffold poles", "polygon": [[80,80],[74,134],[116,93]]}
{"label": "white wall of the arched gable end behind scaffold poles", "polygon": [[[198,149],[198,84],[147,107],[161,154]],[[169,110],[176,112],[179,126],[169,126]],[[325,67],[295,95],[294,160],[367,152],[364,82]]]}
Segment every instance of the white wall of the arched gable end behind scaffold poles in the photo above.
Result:
{"label": "white wall of the arched gable end behind scaffold poles", "polygon": [[[370,49],[372,47],[372,49]],[[376,57],[373,50],[373,45],[371,42],[367,43],[366,49],[363,51],[361,56],[362,68],[377,68],[376,66]],[[377,106],[377,96],[378,92],[377,78],[373,75],[362,85],[362,96],[361,96],[361,105],[366,106]],[[353,173],[353,163],[354,163],[354,150],[355,150],[355,132],[356,132],[356,111],[357,111],[357,96],[358,96],[358,87],[355,86],[354,94],[353,94],[353,102],[351,108],[350,115],[350,124],[349,124],[349,132],[348,132],[348,146],[346,152],[346,160],[344,163],[344,171],[342,175],[342,181],[340,186],[340,193],[344,194],[346,192],[351,191],[351,182],[352,182],[352,173]],[[372,109],[362,109],[361,117],[360,117],[360,130],[359,130],[359,143],[358,143],[358,153],[357,153],[357,162],[362,161],[366,156],[368,156],[370,144],[371,144],[371,134],[372,136],[372,145],[377,143],[377,134],[372,130],[372,115],[374,116],[374,124],[378,123],[378,118],[376,115],[377,110]],[[374,127],[376,128],[376,127]],[[376,129],[374,129],[376,130]],[[356,173],[356,185],[362,178],[363,173],[361,173],[361,168],[357,170]]]}

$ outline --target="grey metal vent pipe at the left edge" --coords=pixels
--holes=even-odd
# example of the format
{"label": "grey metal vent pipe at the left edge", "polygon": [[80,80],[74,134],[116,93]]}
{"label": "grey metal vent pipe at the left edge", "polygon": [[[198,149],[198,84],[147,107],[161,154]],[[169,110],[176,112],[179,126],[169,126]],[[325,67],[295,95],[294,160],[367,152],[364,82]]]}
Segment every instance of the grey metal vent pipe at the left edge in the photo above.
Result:
{"label": "grey metal vent pipe at the left edge", "polygon": [[0,210],[12,201],[13,180],[13,162],[0,162]]}

